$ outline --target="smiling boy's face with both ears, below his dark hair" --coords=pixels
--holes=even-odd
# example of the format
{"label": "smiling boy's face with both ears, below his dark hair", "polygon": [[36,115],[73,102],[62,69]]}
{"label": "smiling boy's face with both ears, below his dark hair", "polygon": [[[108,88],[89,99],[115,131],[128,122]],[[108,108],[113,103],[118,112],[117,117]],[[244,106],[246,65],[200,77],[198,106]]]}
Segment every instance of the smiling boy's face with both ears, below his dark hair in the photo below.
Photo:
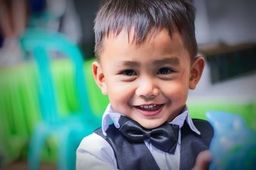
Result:
{"label": "smiling boy's face with both ears, below his dark hair", "polygon": [[151,129],[173,120],[195,89],[204,59],[191,62],[180,34],[162,30],[136,45],[133,34],[122,31],[103,41],[100,63],[93,76],[115,111]]}

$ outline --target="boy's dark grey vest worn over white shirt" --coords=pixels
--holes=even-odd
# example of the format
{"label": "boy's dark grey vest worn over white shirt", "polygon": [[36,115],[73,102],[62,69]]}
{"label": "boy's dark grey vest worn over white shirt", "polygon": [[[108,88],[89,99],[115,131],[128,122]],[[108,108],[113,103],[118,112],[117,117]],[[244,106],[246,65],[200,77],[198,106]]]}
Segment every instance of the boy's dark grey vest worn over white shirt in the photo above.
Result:
{"label": "boy's dark grey vest worn over white shirt", "polygon": [[[209,122],[193,119],[193,123],[200,135],[191,131],[186,121],[181,129],[180,170],[192,169],[198,153],[209,149],[214,131]],[[96,134],[102,136],[113,148],[118,169],[120,170],[159,170],[156,160],[148,150],[145,143],[130,143],[112,124],[106,131],[108,136],[97,129]]]}

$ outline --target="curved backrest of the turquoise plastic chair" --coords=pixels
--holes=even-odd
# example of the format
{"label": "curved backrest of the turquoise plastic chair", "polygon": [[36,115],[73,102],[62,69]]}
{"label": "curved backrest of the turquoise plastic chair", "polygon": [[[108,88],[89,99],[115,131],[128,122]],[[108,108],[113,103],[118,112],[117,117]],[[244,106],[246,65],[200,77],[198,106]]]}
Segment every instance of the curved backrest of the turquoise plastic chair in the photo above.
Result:
{"label": "curved backrest of the turquoise plastic chair", "polygon": [[74,66],[75,88],[78,104],[85,118],[92,117],[92,109],[88,101],[88,93],[84,79],[83,57],[79,48],[60,32],[51,32],[45,29],[28,29],[20,38],[24,52],[35,57],[40,80],[40,108],[43,119],[58,120],[58,107],[51,74],[52,52],[58,52],[69,58]]}

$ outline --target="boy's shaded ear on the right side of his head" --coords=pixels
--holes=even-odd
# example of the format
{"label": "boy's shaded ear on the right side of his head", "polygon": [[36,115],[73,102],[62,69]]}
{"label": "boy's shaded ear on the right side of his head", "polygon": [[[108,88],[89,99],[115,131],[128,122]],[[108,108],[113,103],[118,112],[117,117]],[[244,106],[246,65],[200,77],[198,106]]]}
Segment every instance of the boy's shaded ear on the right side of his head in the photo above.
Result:
{"label": "boy's shaded ear on the right side of his head", "polygon": [[189,89],[194,90],[198,81],[200,80],[205,66],[205,60],[203,57],[198,56],[195,58],[190,71]]}

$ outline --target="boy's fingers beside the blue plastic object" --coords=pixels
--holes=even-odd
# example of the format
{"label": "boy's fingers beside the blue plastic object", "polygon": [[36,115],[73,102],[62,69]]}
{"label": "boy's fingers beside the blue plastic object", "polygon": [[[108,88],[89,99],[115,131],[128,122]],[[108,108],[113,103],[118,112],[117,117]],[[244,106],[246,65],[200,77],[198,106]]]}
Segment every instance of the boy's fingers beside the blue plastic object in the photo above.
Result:
{"label": "boy's fingers beside the blue plastic object", "polygon": [[205,170],[209,169],[209,162],[211,160],[211,153],[209,150],[200,152],[196,157],[196,164],[192,170]]}

